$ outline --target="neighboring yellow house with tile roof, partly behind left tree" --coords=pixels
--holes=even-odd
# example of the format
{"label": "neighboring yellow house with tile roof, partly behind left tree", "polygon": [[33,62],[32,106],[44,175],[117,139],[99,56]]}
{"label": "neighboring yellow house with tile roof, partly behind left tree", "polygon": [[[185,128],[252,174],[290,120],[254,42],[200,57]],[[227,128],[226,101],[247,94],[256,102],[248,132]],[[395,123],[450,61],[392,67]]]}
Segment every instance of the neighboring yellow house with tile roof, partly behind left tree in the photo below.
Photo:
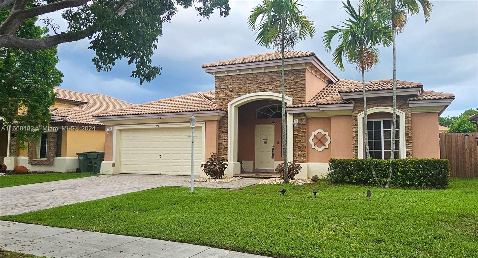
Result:
{"label": "neighboring yellow house with tile roof, partly behind left tree", "polygon": [[[2,163],[12,170],[16,165],[30,171],[73,172],[78,167],[77,152],[104,151],[105,125],[91,114],[131,106],[131,103],[102,94],[54,89],[52,121],[41,139],[19,148],[14,127],[1,131]],[[5,157],[6,156],[6,157]]]}

